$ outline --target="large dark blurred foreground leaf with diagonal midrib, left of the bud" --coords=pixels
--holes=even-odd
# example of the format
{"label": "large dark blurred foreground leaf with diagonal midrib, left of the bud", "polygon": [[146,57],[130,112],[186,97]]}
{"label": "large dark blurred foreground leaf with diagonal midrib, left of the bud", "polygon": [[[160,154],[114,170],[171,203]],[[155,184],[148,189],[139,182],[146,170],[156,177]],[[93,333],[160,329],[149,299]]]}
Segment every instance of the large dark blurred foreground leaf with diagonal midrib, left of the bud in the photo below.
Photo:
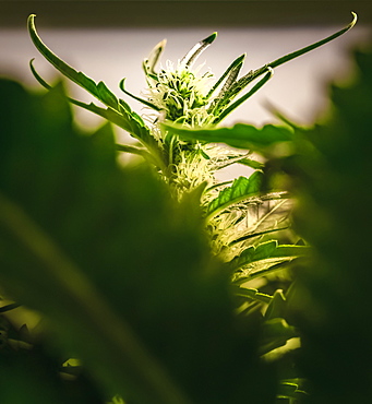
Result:
{"label": "large dark blurred foreground leaf with diagonal midrib, left of the bud", "polygon": [[74,128],[61,85],[0,91],[0,281],[49,344],[125,403],[272,403],[262,316],[233,314],[200,195],[176,204],[147,166],[120,167],[110,127]]}

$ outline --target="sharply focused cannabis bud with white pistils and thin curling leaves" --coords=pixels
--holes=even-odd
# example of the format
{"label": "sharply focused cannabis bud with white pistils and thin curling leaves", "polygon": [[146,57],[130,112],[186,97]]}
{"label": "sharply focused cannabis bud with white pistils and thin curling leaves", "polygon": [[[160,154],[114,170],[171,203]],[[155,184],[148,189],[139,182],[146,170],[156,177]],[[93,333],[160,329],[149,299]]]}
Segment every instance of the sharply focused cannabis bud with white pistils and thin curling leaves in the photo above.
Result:
{"label": "sharply focused cannabis bud with white pistils and thin curling leaves", "polygon": [[[180,139],[178,133],[171,129],[170,123],[191,129],[215,127],[259,91],[272,78],[276,67],[346,33],[355,25],[356,19],[353,14],[353,21],[334,35],[266,63],[260,69],[251,70],[239,78],[245,57],[242,55],[232,61],[215,82],[212,82],[212,72],[199,74],[200,67],[196,69],[193,67],[199,56],[216,39],[216,33],[197,43],[177,63],[168,60],[165,67],[157,70],[165,47],[165,40],[161,40],[143,61],[147,82],[146,98],[143,99],[129,93],[124,88],[125,79],[120,82],[120,88],[124,94],[158,112],[149,124],[145,124],[143,118],[132,111],[123,99],[117,98],[104,82],[96,84],[48,49],[36,32],[35,15],[29,16],[28,28],[41,55],[64,76],[104,103],[107,109],[99,108],[93,103],[87,105],[75,99],[71,102],[118,124],[140,142],[139,146],[120,144],[118,150],[139,154],[153,164],[159,177],[169,186],[176,200],[181,200],[184,193],[201,187],[201,205],[212,250],[228,262],[233,281],[240,284],[252,276],[261,276],[263,270],[266,271],[305,253],[307,249],[303,246],[278,246],[276,241],[260,242],[264,235],[289,227],[288,193],[278,189],[263,190],[264,165],[250,158],[250,153],[211,144],[203,139],[185,139],[185,136]],[[39,83],[50,88],[37,74],[33,61],[31,68]],[[262,75],[263,78],[244,95],[240,95]],[[260,130],[238,124],[232,131],[233,133],[252,131],[257,138],[263,132],[264,135],[261,138],[265,139],[264,142],[267,142],[266,133],[268,132],[275,141],[292,136],[290,129],[280,128],[278,130],[273,126],[266,126]],[[226,138],[228,138],[229,145],[241,146],[235,143],[230,135],[225,134],[216,142],[225,142]],[[255,151],[254,146],[249,148],[250,152]],[[249,178],[239,177],[233,182],[231,181],[232,183],[219,183],[215,178],[215,173],[236,163],[248,165],[255,171]],[[265,203],[268,201],[272,203]],[[260,210],[263,204],[264,209]],[[257,210],[259,214],[256,214]],[[281,214],[278,215],[278,211]],[[265,259],[271,261],[263,265],[256,263]]]}

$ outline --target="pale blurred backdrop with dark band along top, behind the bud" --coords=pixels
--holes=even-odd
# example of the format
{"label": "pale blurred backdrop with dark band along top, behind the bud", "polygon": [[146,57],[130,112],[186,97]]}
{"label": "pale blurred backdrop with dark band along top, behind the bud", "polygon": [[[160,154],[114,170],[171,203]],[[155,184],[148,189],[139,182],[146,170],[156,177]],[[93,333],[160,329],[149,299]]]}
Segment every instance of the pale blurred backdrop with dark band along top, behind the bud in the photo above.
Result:
{"label": "pale blurred backdrop with dark band along top, behind the bud", "polygon": [[[362,46],[371,35],[371,1],[0,1],[0,74],[38,86],[28,61],[49,81],[56,70],[32,44],[26,20],[37,14],[43,40],[59,57],[95,81],[103,80],[136,111],[142,105],[118,88],[125,76],[127,88],[141,94],[145,86],[142,60],[163,38],[168,39],[163,61],[176,61],[196,41],[217,31],[215,43],[201,56],[218,78],[229,63],[247,54],[242,73],[320,40],[347,25],[358,13],[349,33],[275,70],[274,78],[226,120],[263,124],[274,118],[269,102],[289,118],[310,123],[326,106],[324,84],[347,78],[352,70],[349,49]],[[92,98],[71,85],[82,100]],[[99,118],[79,112],[84,124]],[[145,111],[142,111],[145,112]],[[121,136],[125,136],[120,133]]]}

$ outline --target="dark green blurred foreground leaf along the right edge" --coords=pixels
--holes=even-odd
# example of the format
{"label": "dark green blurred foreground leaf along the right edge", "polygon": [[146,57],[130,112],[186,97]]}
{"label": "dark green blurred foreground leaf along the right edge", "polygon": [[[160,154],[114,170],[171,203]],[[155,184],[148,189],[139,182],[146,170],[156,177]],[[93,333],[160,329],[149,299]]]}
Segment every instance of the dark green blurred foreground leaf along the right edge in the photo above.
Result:
{"label": "dark green blurred foreground leaf along the right edge", "polygon": [[288,299],[316,404],[372,402],[372,52],[353,57],[357,74],[331,87],[327,118],[297,129],[296,152],[272,162],[289,175],[295,227],[316,251]]}

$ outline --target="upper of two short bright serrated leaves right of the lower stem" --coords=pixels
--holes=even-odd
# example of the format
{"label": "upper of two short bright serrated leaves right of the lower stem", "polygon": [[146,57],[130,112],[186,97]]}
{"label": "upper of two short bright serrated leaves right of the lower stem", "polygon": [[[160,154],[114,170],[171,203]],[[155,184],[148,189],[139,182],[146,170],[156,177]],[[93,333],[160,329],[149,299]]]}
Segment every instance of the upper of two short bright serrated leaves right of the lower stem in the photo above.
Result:
{"label": "upper of two short bright serrated leaves right of the lower stem", "polygon": [[232,182],[231,187],[223,189],[218,197],[208,204],[206,210],[207,219],[216,216],[232,204],[242,202],[248,198],[259,197],[262,176],[262,173],[255,171],[250,178],[239,177]]}

